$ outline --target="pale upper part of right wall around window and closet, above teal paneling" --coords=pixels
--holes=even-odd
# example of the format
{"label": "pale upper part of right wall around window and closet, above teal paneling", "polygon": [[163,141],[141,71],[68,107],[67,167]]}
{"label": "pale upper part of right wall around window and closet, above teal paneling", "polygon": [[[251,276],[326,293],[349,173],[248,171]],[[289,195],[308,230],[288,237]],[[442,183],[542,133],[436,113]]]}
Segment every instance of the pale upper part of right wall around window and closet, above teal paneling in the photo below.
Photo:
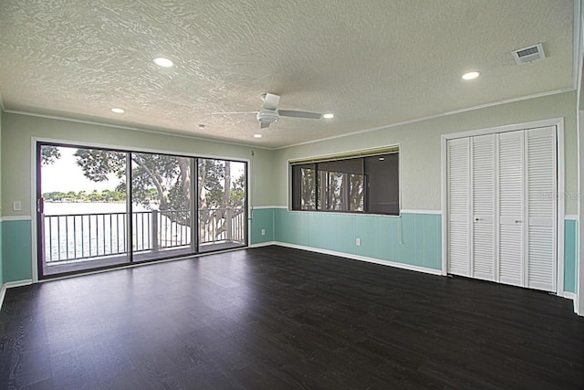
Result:
{"label": "pale upper part of right wall around window and closet, above teal paneling", "polygon": [[[288,160],[400,145],[401,209],[440,210],[442,135],[529,121],[564,118],[566,214],[578,214],[576,91],[391,126],[276,150],[274,206],[288,204]],[[388,107],[388,110],[391,110]]]}

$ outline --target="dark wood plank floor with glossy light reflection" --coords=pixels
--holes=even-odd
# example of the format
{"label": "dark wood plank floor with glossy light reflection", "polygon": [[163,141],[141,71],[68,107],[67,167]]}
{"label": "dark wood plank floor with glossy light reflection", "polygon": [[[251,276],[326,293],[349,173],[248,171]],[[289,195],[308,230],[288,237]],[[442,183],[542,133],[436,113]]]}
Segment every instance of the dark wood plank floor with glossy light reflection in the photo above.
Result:
{"label": "dark wood plank floor with glossy light reflection", "polygon": [[10,289],[0,388],[584,388],[571,300],[267,247]]}

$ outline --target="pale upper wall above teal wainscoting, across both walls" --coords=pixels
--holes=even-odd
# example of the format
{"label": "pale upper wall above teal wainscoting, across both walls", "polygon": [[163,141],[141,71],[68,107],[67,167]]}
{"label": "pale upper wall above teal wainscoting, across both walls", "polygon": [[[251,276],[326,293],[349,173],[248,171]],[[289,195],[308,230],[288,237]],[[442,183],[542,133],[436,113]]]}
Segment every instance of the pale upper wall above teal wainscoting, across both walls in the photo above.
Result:
{"label": "pale upper wall above teal wainscoting, across both walls", "polygon": [[[466,111],[409,124],[388,126],[381,130],[360,132],[346,137],[312,142],[276,151],[231,143],[137,132],[111,126],[47,119],[4,112],[0,145],[0,207],[2,216],[32,216],[34,138],[83,144],[110,145],[132,150],[185,153],[250,160],[252,206],[288,205],[288,160],[334,153],[401,145],[401,208],[409,210],[441,209],[441,136],[495,126],[564,118],[564,163],[566,169],[567,215],[579,212],[579,147],[577,127],[577,91],[531,100],[521,100]],[[388,108],[391,110],[391,108]],[[342,113],[339,113],[339,117]],[[255,156],[252,158],[252,151]],[[584,166],[580,166],[584,169]],[[12,202],[20,200],[22,211],[13,211]],[[581,232],[581,226],[579,228]],[[581,236],[581,234],[580,234]],[[584,249],[580,245],[580,251]],[[579,257],[579,288],[584,282],[584,266]],[[581,298],[581,297],[580,297]],[[584,313],[584,300],[579,300]]]}

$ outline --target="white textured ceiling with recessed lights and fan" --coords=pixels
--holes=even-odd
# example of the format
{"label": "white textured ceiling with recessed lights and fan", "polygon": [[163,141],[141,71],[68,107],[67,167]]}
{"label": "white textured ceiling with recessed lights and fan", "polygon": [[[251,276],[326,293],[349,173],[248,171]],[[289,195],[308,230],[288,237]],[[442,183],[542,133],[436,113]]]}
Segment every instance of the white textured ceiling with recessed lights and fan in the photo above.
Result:
{"label": "white textured ceiling with recessed lights and fan", "polygon": [[[6,111],[279,147],[573,88],[573,40],[573,0],[16,0],[0,5],[0,95]],[[539,42],[547,58],[516,65]],[[254,114],[211,115],[265,92],[336,117],[255,139]]]}

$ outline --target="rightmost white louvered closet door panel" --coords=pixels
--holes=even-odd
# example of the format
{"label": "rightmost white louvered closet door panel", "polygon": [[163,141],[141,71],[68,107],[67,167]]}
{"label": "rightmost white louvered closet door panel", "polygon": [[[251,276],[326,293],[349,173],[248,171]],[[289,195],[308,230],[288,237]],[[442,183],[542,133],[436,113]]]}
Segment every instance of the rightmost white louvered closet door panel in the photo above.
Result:
{"label": "rightmost white louvered closet door panel", "polygon": [[556,128],[526,131],[527,287],[556,290]]}

